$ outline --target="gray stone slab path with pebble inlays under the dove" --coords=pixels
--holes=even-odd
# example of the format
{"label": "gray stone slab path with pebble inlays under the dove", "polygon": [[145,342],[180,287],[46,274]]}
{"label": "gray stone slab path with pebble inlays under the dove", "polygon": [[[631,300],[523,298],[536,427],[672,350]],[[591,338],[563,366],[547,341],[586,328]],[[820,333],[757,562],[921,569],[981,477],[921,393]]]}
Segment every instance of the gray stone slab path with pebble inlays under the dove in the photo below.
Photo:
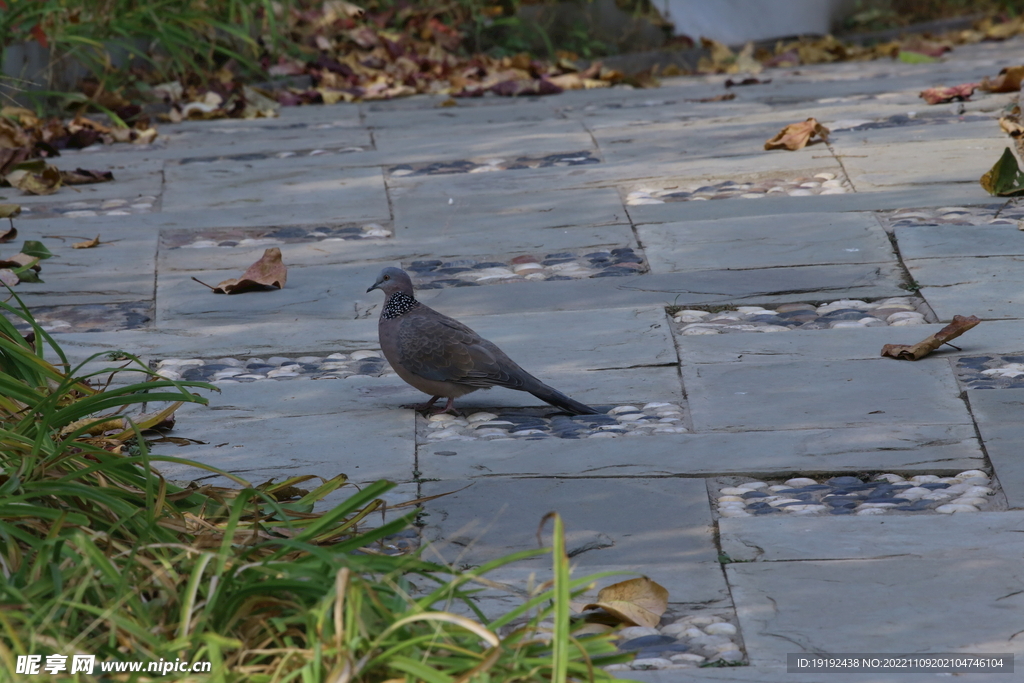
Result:
{"label": "gray stone slab path with pebble inlays under the dove", "polygon": [[[662,630],[630,633],[651,670],[624,677],[818,683],[837,678],[786,674],[786,653],[1021,654],[1024,207],[977,182],[1015,96],[918,97],[1021,46],[777,70],[731,101],[695,101],[722,92],[709,77],[167,126],[148,147],[57,160],[116,182],[0,190],[56,254],[18,293],[77,358],[123,348],[220,383],[210,409],[179,412],[174,433],[202,442],[161,453],[255,482],[387,477],[394,502],[456,492],[425,504],[420,531],[459,564],[532,547],[559,511],[578,572],[670,591]],[[829,145],[762,150],[812,116]],[[110,244],[91,250],[46,237],[97,232]],[[282,291],[191,281],[237,276],[268,245]],[[615,412],[549,419],[501,389],[436,429],[401,409],[422,397],[379,358],[382,298],[365,293],[384,265]],[[954,314],[985,321],[959,350],[880,357]],[[695,668],[716,659],[749,666]]]}

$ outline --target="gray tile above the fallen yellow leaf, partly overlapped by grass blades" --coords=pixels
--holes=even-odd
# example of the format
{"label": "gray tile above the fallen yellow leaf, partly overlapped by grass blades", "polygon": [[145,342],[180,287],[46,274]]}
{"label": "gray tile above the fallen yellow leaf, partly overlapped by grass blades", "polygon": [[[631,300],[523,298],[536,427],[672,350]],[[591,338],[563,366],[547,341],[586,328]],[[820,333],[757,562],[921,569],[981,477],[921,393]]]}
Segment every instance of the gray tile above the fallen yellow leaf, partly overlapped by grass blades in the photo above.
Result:
{"label": "gray tile above the fallen yellow leaf, partly overlapped by grass blades", "polygon": [[[555,510],[565,523],[578,575],[642,572],[658,583],[668,581],[673,602],[727,597],[702,480],[502,479],[464,485],[428,481],[421,488],[424,496],[455,492],[424,504],[424,539],[447,562],[475,565],[537,548],[538,524]],[[629,514],[624,514],[626,501]],[[550,529],[549,522],[545,543],[550,543]],[[550,563],[550,557],[540,557],[519,565]],[[648,573],[648,567],[660,575]]]}

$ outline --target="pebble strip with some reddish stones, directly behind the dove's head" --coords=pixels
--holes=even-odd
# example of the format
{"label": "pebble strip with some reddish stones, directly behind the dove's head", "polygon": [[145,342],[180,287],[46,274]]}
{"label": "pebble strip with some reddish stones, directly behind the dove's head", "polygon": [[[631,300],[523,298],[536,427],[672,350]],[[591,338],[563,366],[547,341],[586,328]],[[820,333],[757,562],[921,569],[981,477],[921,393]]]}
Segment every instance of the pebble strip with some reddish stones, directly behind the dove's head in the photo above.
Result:
{"label": "pebble strip with some reddish stones, directly behind the dove's head", "polygon": [[614,278],[647,271],[643,258],[628,247],[587,253],[558,252],[543,257],[524,254],[508,261],[477,261],[468,258],[413,261],[404,267],[412,273],[416,287],[424,290],[500,283]]}

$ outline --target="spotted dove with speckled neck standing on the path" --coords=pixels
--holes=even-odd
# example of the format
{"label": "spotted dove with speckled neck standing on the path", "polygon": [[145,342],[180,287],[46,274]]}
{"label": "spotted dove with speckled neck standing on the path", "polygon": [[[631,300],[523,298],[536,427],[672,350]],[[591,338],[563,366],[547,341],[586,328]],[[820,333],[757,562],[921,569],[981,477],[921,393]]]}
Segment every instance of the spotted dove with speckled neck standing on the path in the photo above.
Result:
{"label": "spotted dove with speckled neck standing on the path", "polygon": [[500,386],[527,391],[573,415],[597,413],[541,382],[462,323],[417,301],[404,270],[384,268],[367,292],[373,290],[387,297],[377,327],[381,350],[398,377],[432,396],[422,410],[443,396],[447,403],[440,412],[454,413],[459,396]]}

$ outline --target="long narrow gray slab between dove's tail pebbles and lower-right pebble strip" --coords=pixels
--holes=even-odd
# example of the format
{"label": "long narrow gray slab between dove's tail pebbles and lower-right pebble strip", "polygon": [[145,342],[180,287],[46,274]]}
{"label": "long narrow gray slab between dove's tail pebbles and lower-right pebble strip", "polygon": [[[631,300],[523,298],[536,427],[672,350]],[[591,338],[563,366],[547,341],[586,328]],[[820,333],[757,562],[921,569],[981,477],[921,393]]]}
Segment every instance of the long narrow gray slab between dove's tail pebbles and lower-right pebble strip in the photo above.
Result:
{"label": "long narrow gray slab between dove's tail pebbles and lower-right pebble strip", "polygon": [[769,477],[792,472],[955,473],[985,467],[985,458],[971,425],[880,425],[427,443],[419,446],[419,466],[425,477],[441,479],[736,474]]}

